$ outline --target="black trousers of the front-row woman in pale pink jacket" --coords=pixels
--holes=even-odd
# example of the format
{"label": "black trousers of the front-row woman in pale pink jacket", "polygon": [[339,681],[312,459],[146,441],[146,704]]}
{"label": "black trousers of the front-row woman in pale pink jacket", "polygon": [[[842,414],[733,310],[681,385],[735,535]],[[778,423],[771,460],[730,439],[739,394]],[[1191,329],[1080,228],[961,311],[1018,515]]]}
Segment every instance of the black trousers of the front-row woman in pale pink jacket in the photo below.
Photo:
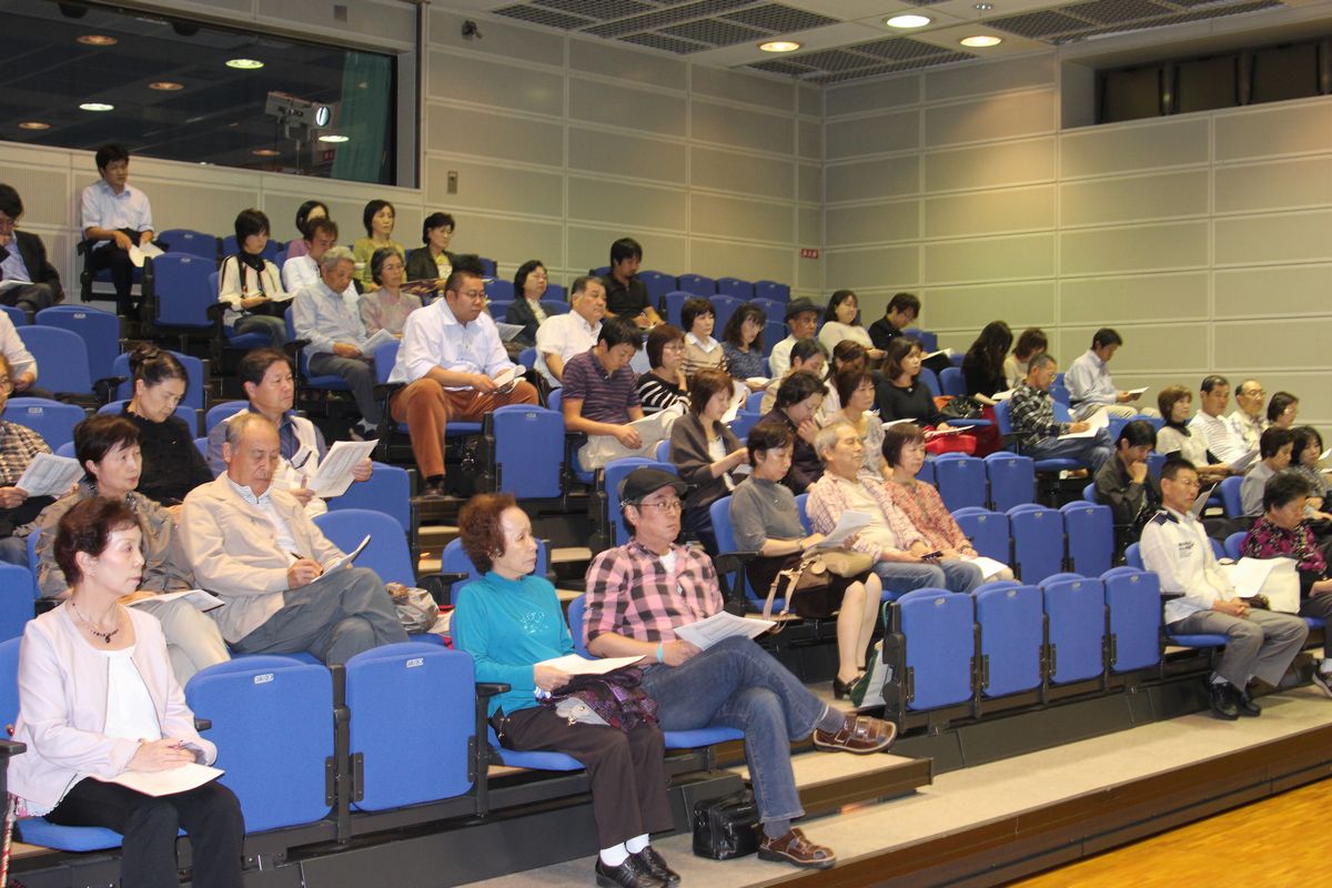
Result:
{"label": "black trousers of the front-row woman in pale pink jacket", "polygon": [[193,853],[194,888],[240,888],[245,820],[236,793],[213,780],[188,792],[147,796],[119,783],[80,780],[47,820],[63,827],[105,827],[125,837],[124,888],[178,888],[176,832]]}

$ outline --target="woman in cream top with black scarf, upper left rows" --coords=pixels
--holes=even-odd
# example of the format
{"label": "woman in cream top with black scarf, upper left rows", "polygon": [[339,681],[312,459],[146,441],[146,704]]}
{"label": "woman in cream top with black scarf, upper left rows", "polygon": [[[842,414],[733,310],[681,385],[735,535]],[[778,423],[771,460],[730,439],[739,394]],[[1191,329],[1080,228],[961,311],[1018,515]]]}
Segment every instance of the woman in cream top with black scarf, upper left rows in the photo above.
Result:
{"label": "woman in cream top with black scarf, upper left rows", "polygon": [[257,209],[236,214],[236,256],[222,260],[217,274],[217,301],[226,304],[222,324],[237,333],[262,333],[273,347],[286,345],[284,313],[290,293],[282,290],[277,266],[264,258],[268,216]]}

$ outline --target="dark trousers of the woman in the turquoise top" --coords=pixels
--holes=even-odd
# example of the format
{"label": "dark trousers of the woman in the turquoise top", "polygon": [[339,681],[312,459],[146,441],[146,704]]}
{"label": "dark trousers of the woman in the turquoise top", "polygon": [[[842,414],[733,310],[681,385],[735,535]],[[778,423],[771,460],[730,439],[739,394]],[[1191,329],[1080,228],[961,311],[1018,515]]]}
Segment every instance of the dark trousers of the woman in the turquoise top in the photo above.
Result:
{"label": "dark trousers of the woman in the turquoise top", "polygon": [[549,706],[496,712],[492,724],[509,750],[563,752],[587,768],[599,847],[675,825],[666,797],[666,738],[655,724],[627,734],[605,724],[569,724]]}

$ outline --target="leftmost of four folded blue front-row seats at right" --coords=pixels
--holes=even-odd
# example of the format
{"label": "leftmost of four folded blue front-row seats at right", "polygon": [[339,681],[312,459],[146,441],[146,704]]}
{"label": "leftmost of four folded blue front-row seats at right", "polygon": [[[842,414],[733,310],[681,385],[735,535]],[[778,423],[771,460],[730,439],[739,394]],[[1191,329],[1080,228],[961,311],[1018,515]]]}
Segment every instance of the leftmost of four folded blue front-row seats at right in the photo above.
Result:
{"label": "leftmost of four folded blue front-row seats at right", "polygon": [[906,638],[907,708],[934,710],[971,699],[975,624],[970,595],[918,588],[899,598],[898,626]]}

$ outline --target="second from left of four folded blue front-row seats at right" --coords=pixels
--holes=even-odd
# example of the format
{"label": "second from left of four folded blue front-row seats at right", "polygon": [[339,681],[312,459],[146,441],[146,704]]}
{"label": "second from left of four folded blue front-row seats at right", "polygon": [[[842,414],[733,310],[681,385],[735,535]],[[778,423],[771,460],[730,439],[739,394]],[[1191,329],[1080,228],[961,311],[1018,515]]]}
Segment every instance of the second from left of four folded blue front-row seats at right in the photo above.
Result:
{"label": "second from left of four folded blue front-row seats at right", "polygon": [[1018,583],[986,583],[975,591],[986,696],[1040,687],[1046,616],[1040,590]]}

